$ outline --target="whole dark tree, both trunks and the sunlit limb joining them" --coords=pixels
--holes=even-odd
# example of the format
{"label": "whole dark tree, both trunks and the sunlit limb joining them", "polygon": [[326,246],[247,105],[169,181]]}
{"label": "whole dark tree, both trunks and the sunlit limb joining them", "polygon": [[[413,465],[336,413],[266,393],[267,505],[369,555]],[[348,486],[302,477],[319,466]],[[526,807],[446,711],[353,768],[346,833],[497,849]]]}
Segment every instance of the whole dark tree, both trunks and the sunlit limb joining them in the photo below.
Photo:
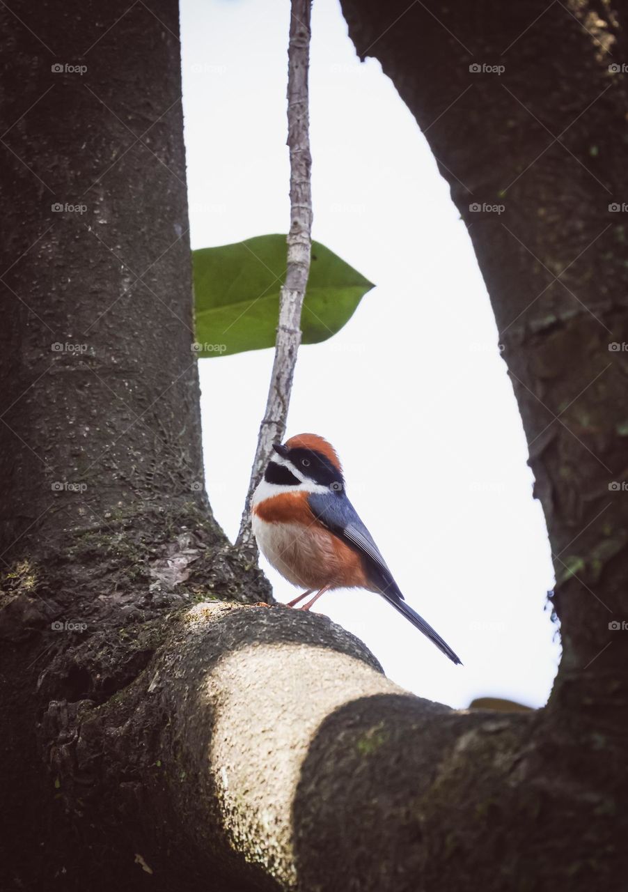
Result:
{"label": "whole dark tree, both trunks and the sunlit limb joining them", "polygon": [[556,136],[591,107],[525,170],[542,128],[495,74],[443,112],[540,4],[345,9],[473,224],[570,568],[551,703],[455,713],[326,618],[245,606],[267,583],[202,487],[176,4],[2,7],[2,888],[623,888],[623,79],[553,4],[504,83]]}

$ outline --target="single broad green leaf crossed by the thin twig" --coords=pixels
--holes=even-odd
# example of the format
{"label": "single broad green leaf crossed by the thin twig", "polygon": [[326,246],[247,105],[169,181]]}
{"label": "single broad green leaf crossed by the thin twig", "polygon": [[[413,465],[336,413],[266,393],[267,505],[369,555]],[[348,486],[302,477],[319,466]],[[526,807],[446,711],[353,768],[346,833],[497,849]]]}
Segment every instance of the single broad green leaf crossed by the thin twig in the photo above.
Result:
{"label": "single broad green leaf crossed by the thin twig", "polygon": [[[286,273],[286,236],[258,235],[245,242],[192,252],[196,343],[199,357],[273,347],[279,291]],[[319,242],[301,315],[302,343],[335,335],[373,287]]]}

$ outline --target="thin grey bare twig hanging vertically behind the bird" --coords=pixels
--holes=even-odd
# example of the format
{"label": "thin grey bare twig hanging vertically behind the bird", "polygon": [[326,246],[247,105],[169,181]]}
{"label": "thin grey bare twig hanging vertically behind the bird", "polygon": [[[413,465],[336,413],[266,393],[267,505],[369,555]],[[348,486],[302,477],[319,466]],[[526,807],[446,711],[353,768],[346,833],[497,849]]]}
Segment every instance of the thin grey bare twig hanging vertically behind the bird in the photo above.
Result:
{"label": "thin grey bare twig hanging vertically behind the bird", "polygon": [[310,173],[307,74],[310,62],[310,0],[291,0],[288,47],[288,146],[290,148],[290,232],[288,268],[281,286],[279,325],[273,374],[257,437],[257,451],[237,544],[256,549],[250,524],[250,503],[273,449],[283,440],[290,405],[292,377],[301,343],[301,308],[306,295],[312,252],[312,188]]}

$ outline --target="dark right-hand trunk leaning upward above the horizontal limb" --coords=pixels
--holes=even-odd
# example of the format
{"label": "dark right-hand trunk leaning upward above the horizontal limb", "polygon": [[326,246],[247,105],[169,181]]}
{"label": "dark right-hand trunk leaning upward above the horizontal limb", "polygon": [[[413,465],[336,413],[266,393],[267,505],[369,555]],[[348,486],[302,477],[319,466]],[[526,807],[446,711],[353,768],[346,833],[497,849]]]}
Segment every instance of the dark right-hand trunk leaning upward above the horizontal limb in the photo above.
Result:
{"label": "dark right-hand trunk leaning upward above the horizontal limb", "polygon": [[598,676],[624,673],[608,624],[628,614],[624,5],[343,9],[469,227],[550,533],[565,661],[599,696]]}

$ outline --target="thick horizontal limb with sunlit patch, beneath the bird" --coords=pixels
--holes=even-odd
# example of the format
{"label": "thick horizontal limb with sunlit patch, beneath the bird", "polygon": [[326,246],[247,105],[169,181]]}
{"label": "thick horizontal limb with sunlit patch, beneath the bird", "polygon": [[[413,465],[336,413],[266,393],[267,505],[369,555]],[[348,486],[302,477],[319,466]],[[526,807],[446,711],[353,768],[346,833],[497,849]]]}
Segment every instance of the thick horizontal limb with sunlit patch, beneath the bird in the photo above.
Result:
{"label": "thick horizontal limb with sunlit patch, beneath the bird", "polygon": [[[326,617],[284,607],[199,604],[122,697],[53,702],[44,727],[69,810],[97,826],[124,814],[118,858],[141,855],[159,892],[173,871],[182,892],[209,878],[239,892],[503,892],[537,873],[533,850],[539,888],[591,888],[596,871],[575,881],[561,840],[583,803],[595,833],[575,860],[595,859],[599,832],[614,838],[582,729],[413,697]],[[621,787],[623,750],[605,756]]]}

